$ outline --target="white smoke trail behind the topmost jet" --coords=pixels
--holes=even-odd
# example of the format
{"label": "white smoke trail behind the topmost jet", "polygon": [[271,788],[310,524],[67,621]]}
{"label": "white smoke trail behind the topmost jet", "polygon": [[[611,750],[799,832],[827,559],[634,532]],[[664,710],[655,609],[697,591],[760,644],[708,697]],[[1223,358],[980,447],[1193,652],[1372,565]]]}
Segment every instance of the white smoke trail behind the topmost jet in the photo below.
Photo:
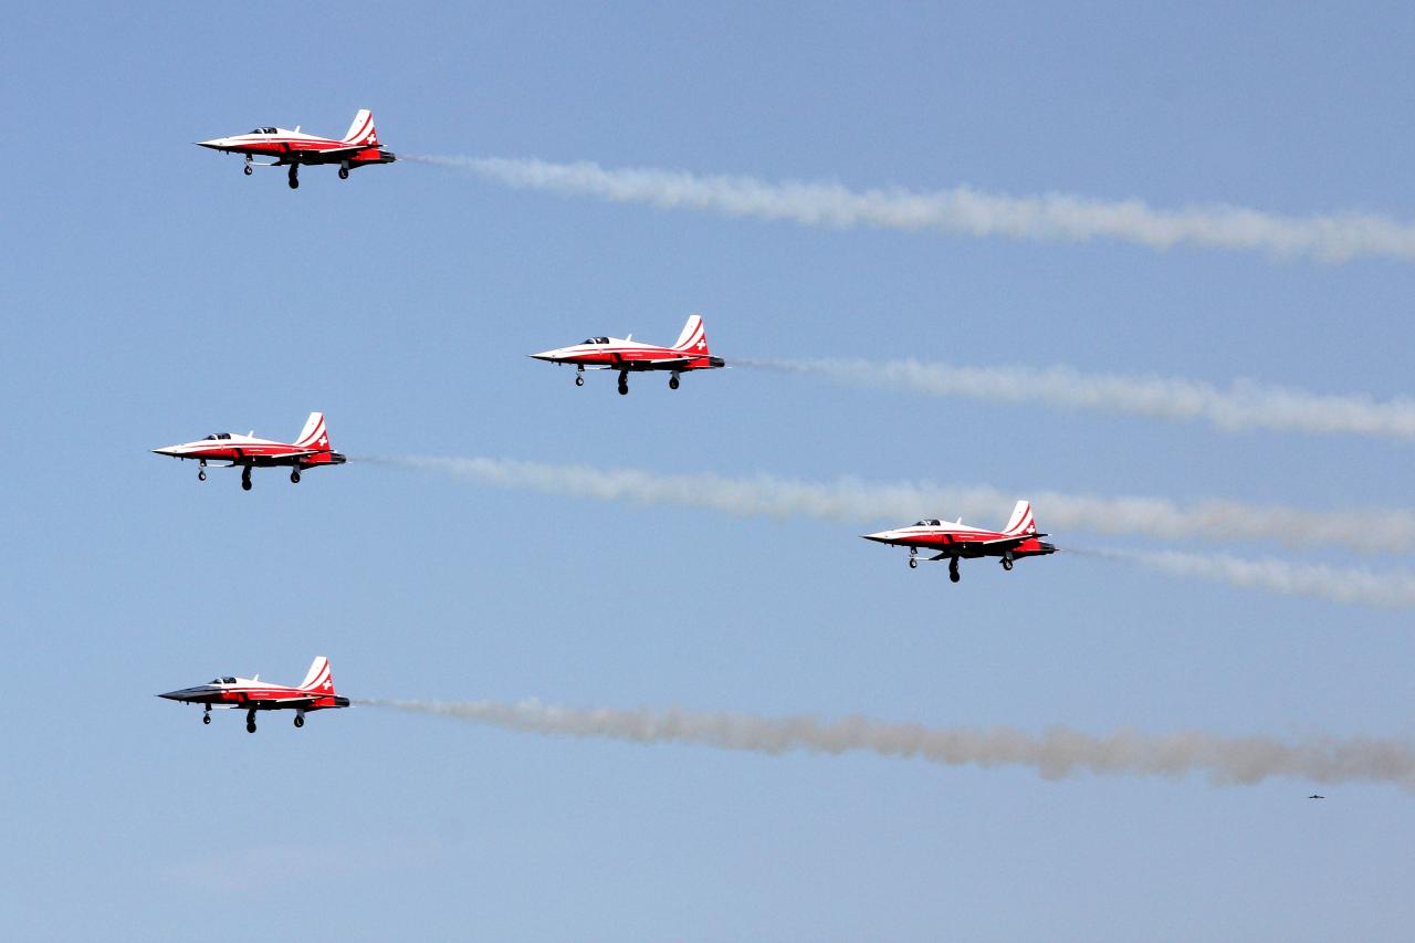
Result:
{"label": "white smoke trail behind the topmost jet", "polygon": [[932,193],[850,190],[838,183],[771,183],[743,176],[698,176],[652,167],[610,170],[591,161],[412,154],[441,167],[470,170],[524,190],[698,210],[727,217],[788,219],[805,227],[873,227],[904,232],[1005,236],[1044,242],[1116,239],[1150,249],[1191,245],[1309,256],[1415,261],[1415,227],[1387,217],[1343,212],[1285,217],[1223,204],[1155,210],[1139,200],[1073,194],[1009,197],[954,187]]}

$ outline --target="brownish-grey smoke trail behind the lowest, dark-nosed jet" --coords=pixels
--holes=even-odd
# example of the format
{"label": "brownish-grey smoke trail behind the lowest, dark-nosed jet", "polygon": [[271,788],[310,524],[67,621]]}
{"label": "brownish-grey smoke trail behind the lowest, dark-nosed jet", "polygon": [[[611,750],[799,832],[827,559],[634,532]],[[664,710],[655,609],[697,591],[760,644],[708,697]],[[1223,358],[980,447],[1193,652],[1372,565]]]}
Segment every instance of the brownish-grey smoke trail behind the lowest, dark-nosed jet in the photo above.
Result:
{"label": "brownish-grey smoke trail behind the lowest, dark-nosed jet", "polygon": [[1252,784],[1271,777],[1319,783],[1377,782],[1415,789],[1415,746],[1404,739],[1309,736],[1283,742],[1271,736],[1217,736],[1197,731],[1150,735],[1119,731],[1094,736],[1064,726],[1041,735],[1010,726],[928,728],[880,724],[862,716],[819,721],[811,716],[761,718],[747,714],[576,709],[519,701],[429,702],[355,701],[417,714],[488,724],[548,736],[597,736],[634,743],[692,743],[726,750],[780,755],[870,752],[918,758],[945,766],[1027,766],[1047,779],[1087,770],[1097,776],[1207,773],[1215,784]]}

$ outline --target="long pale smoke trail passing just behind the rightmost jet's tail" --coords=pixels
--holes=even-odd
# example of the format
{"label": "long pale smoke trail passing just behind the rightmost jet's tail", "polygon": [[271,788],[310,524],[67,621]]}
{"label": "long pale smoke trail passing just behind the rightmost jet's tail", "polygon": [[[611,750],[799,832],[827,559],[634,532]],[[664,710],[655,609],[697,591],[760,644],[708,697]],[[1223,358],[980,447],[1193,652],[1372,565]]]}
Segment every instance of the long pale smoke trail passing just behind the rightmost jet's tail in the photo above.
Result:
{"label": "long pale smoke trail passing just behind the rightmost jet's tail", "polygon": [[869,484],[853,479],[801,481],[768,474],[654,474],[638,469],[596,469],[487,457],[371,457],[400,467],[464,477],[504,488],[569,494],[599,501],[633,501],[706,508],[743,517],[815,518],[850,524],[900,524],[920,517],[964,515],[1003,522],[1013,501],[1032,500],[1041,530],[1142,535],[1159,539],[1261,541],[1288,548],[1336,547],[1363,554],[1415,549],[1415,513],[1307,511],[1285,505],[1201,500],[1099,497],[1051,491],[1015,494],[992,487]]}

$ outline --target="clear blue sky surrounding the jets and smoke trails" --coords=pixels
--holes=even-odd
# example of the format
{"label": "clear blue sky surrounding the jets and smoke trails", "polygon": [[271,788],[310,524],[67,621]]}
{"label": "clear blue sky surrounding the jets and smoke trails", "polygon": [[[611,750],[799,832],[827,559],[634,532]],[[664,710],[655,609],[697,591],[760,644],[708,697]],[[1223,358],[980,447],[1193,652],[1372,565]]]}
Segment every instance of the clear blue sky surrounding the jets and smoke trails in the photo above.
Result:
{"label": "clear blue sky surrounding the jets and smoke trails", "polygon": [[358,462],[299,487],[258,471],[246,494],[235,471],[198,484],[149,455],[293,436],[323,409],[355,457],[1415,500],[1409,447],[1370,439],[749,370],[672,394],[640,377],[621,398],[613,375],[576,389],[524,357],[671,341],[696,310],[729,360],[1395,396],[1411,263],[808,229],[413,163],[307,170],[291,193],[191,146],[258,125],[337,136],[371,108],[406,153],[1409,219],[1409,4],[507,6],[7,10],[6,935],[1408,939],[1415,800],[1392,786],[1309,803],[1300,780],[1049,782],[374,708],[303,731],[266,715],[250,736],[238,714],[204,728],[151,697],[215,674],[296,682],[327,654],[354,697],[1409,733],[1408,613],[1063,555],[965,565],[954,586],[857,527]]}

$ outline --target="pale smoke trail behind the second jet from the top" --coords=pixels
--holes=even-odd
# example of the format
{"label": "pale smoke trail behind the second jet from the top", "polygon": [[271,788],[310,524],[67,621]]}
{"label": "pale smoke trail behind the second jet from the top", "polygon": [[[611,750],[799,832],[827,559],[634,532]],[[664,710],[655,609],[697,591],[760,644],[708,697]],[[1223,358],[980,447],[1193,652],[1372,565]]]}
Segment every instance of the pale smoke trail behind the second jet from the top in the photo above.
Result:
{"label": "pale smoke trail behind the second jet from the top", "polygon": [[1227,389],[1177,377],[1084,374],[1070,367],[954,367],[917,360],[741,360],[734,365],[824,377],[860,387],[989,402],[1208,422],[1224,430],[1274,429],[1415,440],[1415,399],[1320,395],[1238,381]]}

